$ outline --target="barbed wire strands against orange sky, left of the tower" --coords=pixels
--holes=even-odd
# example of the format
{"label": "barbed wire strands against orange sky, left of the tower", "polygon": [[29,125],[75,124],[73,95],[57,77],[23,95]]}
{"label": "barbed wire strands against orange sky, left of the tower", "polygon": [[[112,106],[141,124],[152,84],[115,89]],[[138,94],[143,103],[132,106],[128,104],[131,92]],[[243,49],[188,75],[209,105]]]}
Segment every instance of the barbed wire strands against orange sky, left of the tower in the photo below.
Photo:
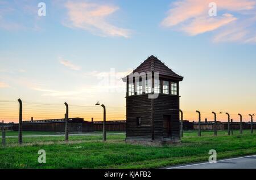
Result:
{"label": "barbed wire strands against orange sky, left of the tower", "polygon": [[[65,106],[63,104],[43,104],[39,102],[23,101],[23,121],[44,119],[62,119],[65,114]],[[126,108],[117,106],[106,106],[108,120],[125,120]],[[84,118],[85,121],[102,121],[103,110],[95,105],[72,105],[69,104],[69,117]],[[0,101],[0,120],[9,122],[18,122],[19,104],[16,101]]]}

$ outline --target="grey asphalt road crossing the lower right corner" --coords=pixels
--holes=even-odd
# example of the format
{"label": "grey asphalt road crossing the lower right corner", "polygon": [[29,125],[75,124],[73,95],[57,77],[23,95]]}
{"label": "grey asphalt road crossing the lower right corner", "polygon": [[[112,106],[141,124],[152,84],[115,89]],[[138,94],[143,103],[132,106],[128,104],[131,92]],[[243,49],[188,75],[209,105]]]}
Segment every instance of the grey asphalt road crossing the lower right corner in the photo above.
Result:
{"label": "grey asphalt road crossing the lower right corner", "polygon": [[256,155],[217,160],[217,163],[172,166],[167,169],[256,169]]}

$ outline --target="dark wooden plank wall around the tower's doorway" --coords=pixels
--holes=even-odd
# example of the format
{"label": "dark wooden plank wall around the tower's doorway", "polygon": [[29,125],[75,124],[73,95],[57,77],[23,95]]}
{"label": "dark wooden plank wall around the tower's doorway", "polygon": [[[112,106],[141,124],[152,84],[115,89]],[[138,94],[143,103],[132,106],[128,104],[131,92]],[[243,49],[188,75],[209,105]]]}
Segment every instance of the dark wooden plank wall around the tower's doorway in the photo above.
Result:
{"label": "dark wooden plank wall around the tower's doorway", "polygon": [[179,139],[179,96],[161,95],[155,99],[155,140],[163,139],[163,115],[171,115],[172,138]]}

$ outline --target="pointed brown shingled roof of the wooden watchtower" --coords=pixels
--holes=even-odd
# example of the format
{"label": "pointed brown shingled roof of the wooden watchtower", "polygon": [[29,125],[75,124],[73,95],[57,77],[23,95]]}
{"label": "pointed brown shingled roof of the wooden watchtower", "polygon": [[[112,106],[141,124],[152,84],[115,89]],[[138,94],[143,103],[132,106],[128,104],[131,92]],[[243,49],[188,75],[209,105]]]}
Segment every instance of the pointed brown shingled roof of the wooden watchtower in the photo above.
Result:
{"label": "pointed brown shingled roof of the wooden watchtower", "polygon": [[154,55],[151,55],[148,57],[141,65],[139,65],[137,68],[135,68],[134,72],[158,72],[159,75],[164,76],[171,76],[173,78],[183,79],[183,76],[180,76],[176,74],[174,71],[171,70],[171,68],[164,65],[163,62],[161,62],[158,58],[156,58]]}

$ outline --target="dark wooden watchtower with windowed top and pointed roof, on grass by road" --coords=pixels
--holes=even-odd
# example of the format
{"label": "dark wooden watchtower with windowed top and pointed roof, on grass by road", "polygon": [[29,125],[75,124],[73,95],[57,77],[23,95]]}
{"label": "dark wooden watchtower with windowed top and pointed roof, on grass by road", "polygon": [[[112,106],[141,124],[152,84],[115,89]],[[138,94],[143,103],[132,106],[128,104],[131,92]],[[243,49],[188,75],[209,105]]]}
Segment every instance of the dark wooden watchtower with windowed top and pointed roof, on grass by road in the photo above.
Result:
{"label": "dark wooden watchtower with windowed top and pointed roof, on grass by road", "polygon": [[126,142],[180,142],[179,82],[182,80],[182,76],[154,55],[123,78],[127,85]]}

